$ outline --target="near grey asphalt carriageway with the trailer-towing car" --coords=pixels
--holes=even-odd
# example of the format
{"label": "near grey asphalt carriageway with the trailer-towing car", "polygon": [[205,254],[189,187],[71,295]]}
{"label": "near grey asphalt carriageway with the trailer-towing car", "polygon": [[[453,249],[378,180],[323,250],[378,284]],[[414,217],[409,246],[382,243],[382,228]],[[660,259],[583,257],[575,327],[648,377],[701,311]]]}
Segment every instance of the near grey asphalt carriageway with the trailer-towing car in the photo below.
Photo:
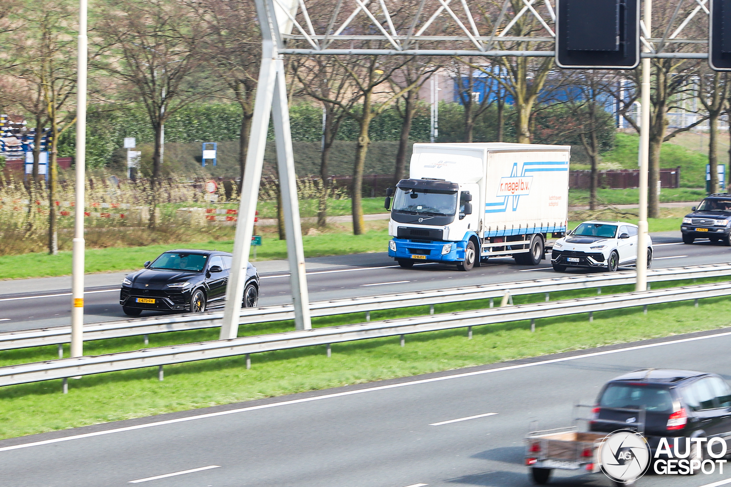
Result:
{"label": "near grey asphalt carriageway with the trailer-towing car", "polygon": [[[731,331],[716,330],[4,440],[0,485],[527,487],[529,421],[567,426],[574,402],[592,404],[602,383],[635,369],[729,380],[729,348]],[[727,479],[729,467],[647,475],[637,487]],[[561,471],[551,485],[611,483]]]}

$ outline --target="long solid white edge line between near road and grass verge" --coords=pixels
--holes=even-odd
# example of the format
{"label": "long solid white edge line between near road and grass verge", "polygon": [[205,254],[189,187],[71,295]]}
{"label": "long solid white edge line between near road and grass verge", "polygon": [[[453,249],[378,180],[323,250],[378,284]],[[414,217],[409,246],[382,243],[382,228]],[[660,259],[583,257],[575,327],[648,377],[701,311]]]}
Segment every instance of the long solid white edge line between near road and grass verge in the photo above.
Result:
{"label": "long solid white edge line between near road and grass verge", "polygon": [[106,429],[101,432],[74,434],[74,435],[68,436],[68,437],[54,438],[53,440],[42,440],[42,441],[31,442],[31,443],[21,443],[20,445],[2,447],[2,448],[0,448],[0,451],[18,450],[18,448],[29,448],[31,446],[50,445],[52,443],[58,443],[58,442],[62,442],[62,441],[79,440],[81,438],[97,437],[97,436],[102,436],[103,434],[131,432],[131,431],[135,431],[135,429],[145,429],[145,428],[151,428],[153,426],[164,426],[166,424],[184,423],[186,421],[194,421],[197,419],[216,418],[217,416],[224,416],[224,415],[235,414],[235,413],[245,413],[246,411],[269,409],[270,407],[289,406],[290,404],[301,404],[303,402],[319,401],[321,399],[332,399],[333,397],[352,396],[353,394],[363,394],[366,392],[373,392],[373,391],[386,391],[387,389],[394,389],[394,388],[406,387],[406,386],[417,386],[420,384],[439,382],[441,380],[461,379],[463,377],[472,377],[473,375],[493,374],[495,372],[505,372],[507,370],[525,369],[526,367],[535,367],[537,365],[558,364],[560,362],[577,360],[579,358],[593,358],[593,357],[599,357],[599,356],[604,356],[604,355],[610,355],[613,353],[632,352],[635,350],[644,350],[645,348],[664,347],[665,345],[677,345],[678,343],[694,342],[697,340],[708,340],[709,338],[720,338],[720,337],[730,337],[730,336],[731,336],[731,331],[724,331],[723,333],[705,335],[703,337],[681,338],[680,340],[671,340],[670,342],[648,343],[647,345],[635,345],[634,347],[618,348],[616,350],[604,350],[602,352],[583,353],[582,355],[575,355],[572,357],[551,358],[550,360],[531,362],[530,364],[509,365],[507,367],[498,367],[496,369],[477,370],[476,372],[463,372],[462,374],[454,374],[454,375],[443,375],[442,377],[432,377],[431,379],[412,380],[409,382],[390,384],[388,386],[375,386],[375,387],[357,389],[355,391],[345,391],[345,392],[336,392],[333,394],[323,394],[322,396],[307,397],[304,399],[292,399],[290,401],[272,402],[270,404],[261,404],[260,406],[241,407],[239,409],[219,411],[219,413],[206,413],[206,414],[195,415],[195,416],[186,416],[186,418],[177,418],[177,419],[169,419],[166,421],[156,421],[154,423],[138,424],[137,426],[125,426],[124,428]]}

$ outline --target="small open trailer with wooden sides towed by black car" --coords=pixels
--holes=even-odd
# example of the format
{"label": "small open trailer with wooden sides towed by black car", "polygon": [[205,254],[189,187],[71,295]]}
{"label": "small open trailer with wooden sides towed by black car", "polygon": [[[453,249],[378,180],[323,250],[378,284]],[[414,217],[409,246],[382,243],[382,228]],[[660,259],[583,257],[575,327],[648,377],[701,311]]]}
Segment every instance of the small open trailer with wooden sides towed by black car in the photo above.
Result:
{"label": "small open trailer with wooden sides towed by black car", "polygon": [[533,481],[548,483],[553,469],[601,472],[599,446],[606,433],[583,433],[576,426],[529,432],[526,439],[526,466]]}

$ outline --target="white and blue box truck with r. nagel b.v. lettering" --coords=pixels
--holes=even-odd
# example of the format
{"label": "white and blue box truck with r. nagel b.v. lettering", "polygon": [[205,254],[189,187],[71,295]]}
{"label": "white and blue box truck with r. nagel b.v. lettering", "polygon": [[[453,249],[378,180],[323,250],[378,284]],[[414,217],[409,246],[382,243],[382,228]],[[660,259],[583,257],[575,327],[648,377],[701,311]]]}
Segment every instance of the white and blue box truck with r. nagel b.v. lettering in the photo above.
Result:
{"label": "white and blue box truck with r. nagel b.v. lettering", "polygon": [[490,257],[536,265],[568,223],[567,145],[414,144],[409,179],[388,188],[388,255],[401,267]]}

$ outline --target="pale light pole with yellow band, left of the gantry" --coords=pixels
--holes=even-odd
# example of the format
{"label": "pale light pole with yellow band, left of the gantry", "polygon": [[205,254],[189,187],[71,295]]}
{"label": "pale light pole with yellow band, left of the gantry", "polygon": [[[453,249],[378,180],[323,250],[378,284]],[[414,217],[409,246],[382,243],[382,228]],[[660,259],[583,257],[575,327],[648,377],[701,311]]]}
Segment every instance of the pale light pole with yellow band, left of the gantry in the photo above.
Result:
{"label": "pale light pole with yellow band, left of the gantry", "polygon": [[71,281],[71,356],[83,355],[84,326],[84,210],[86,202],[86,9],[87,0],[79,0],[79,38],[77,53],[76,95],[76,202]]}

